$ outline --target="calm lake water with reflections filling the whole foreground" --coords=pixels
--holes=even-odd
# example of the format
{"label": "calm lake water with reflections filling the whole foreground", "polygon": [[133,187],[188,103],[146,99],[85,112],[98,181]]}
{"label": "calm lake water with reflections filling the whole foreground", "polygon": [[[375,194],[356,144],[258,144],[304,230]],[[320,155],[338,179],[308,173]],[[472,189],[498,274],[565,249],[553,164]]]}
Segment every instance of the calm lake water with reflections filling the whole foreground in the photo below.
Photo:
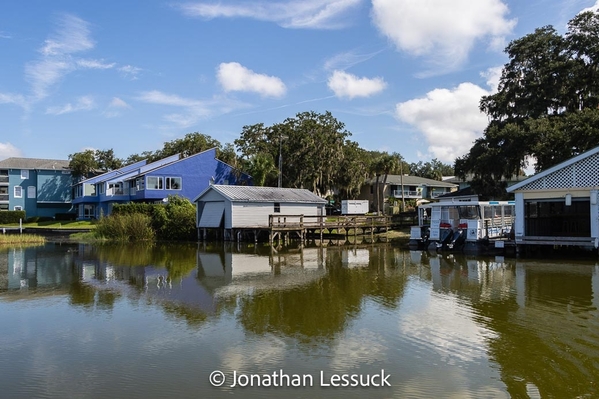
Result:
{"label": "calm lake water with reflections filling the whole foreground", "polygon": [[0,248],[0,397],[599,397],[598,309],[595,258]]}

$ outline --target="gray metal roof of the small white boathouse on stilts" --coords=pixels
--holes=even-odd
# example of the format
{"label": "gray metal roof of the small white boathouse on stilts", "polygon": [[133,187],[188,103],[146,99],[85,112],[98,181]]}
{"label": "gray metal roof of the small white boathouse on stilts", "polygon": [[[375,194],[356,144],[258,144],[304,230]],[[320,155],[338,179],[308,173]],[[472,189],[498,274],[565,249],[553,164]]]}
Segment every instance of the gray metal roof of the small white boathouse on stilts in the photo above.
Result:
{"label": "gray metal roof of the small white boathouse on stilts", "polygon": [[213,184],[198,195],[197,201],[209,190],[215,190],[233,202],[302,202],[326,204],[327,200],[303,188],[226,186]]}

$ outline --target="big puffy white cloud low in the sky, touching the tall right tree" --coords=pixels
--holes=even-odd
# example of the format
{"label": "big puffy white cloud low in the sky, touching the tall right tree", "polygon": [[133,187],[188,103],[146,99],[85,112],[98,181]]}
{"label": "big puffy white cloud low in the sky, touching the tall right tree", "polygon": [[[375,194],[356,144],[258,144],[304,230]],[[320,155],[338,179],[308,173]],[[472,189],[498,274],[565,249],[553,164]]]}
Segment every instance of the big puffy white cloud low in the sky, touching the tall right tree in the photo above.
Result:
{"label": "big puffy white cloud low in the sky, touching the tall right tree", "polygon": [[397,104],[396,116],[416,127],[428,142],[428,150],[442,162],[453,162],[468,152],[488,124],[478,105],[489,91],[462,83],[449,89],[435,89],[424,98]]}

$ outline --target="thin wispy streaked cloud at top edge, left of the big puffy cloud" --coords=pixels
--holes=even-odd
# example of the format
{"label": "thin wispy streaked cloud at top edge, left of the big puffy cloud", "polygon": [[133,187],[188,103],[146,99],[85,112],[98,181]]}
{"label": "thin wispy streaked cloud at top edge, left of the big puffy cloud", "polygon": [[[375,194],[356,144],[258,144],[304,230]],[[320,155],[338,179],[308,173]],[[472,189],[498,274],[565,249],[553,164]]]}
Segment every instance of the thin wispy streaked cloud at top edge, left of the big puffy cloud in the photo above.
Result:
{"label": "thin wispy streaked cloud at top edge, left of the big puffy cloud", "polygon": [[339,29],[348,24],[347,14],[362,0],[256,1],[237,4],[188,3],[178,7],[184,14],[205,19],[254,18],[284,28]]}

